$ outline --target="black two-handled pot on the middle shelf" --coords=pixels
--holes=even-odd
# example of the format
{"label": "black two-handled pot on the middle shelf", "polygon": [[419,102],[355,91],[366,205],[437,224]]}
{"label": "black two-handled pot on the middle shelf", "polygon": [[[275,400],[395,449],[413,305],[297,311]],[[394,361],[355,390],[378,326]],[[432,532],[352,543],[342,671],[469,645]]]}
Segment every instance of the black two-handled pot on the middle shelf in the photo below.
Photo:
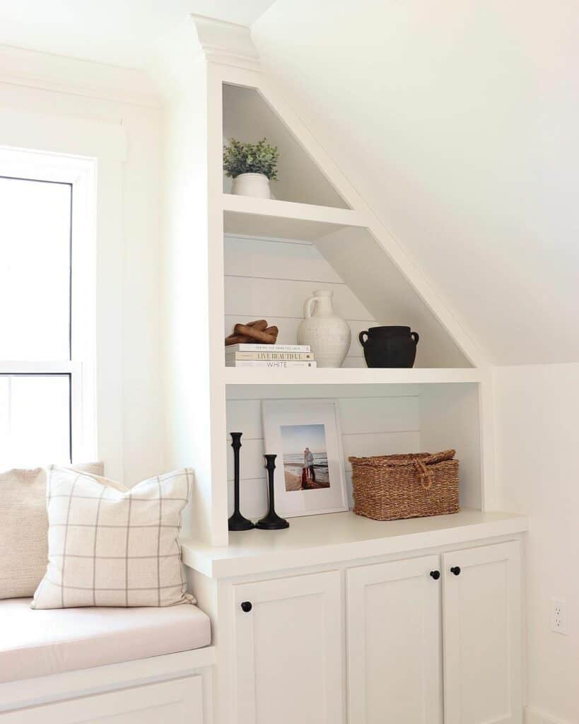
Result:
{"label": "black two-handled pot on the middle shelf", "polygon": [[370,327],[367,332],[360,332],[358,339],[368,367],[414,365],[419,337],[410,327]]}

